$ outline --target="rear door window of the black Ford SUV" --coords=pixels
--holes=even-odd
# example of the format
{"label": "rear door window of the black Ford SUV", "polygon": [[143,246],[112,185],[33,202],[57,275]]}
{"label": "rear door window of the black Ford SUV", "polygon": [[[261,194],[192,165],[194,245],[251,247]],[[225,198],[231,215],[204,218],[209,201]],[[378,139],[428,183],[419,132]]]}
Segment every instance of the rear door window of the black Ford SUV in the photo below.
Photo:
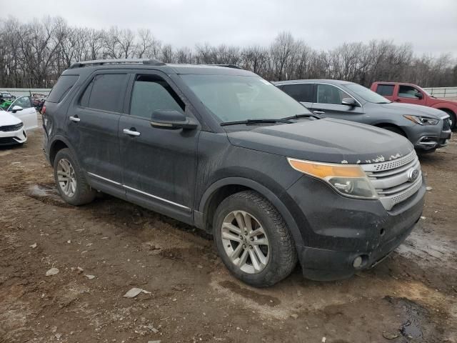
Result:
{"label": "rear door window of the black Ford SUV", "polygon": [[103,111],[121,112],[127,74],[99,74],[86,87],[81,106]]}

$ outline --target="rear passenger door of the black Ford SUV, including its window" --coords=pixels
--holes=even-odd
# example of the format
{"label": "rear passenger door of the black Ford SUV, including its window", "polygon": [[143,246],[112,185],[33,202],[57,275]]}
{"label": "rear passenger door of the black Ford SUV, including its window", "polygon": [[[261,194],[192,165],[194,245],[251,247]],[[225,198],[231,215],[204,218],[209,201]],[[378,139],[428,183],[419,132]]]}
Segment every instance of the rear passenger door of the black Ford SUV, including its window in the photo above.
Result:
{"label": "rear passenger door of the black Ford SUV, including its window", "polygon": [[124,197],[118,126],[129,74],[101,70],[77,95],[66,117],[66,137],[76,149],[89,182],[97,189]]}

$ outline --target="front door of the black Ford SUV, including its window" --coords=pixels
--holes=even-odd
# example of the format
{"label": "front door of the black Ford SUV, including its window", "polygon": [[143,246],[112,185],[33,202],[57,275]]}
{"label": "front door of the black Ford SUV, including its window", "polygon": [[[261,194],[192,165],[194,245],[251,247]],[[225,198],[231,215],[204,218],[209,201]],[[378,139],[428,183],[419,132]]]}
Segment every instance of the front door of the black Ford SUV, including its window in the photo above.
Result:
{"label": "front door of the black Ford SUV, including its window", "polygon": [[199,129],[154,128],[151,114],[159,109],[193,116],[168,76],[159,71],[135,74],[129,115],[119,121],[127,199],[191,223]]}

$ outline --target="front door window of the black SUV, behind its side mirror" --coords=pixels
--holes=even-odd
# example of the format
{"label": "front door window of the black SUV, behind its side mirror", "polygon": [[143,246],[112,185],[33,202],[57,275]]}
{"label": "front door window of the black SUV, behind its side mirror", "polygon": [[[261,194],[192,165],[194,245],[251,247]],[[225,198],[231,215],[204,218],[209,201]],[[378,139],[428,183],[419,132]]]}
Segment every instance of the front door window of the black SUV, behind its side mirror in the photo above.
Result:
{"label": "front door window of the black SUV, behind its side mirror", "polygon": [[160,76],[137,76],[131,94],[130,114],[151,118],[156,109],[184,111],[184,103]]}

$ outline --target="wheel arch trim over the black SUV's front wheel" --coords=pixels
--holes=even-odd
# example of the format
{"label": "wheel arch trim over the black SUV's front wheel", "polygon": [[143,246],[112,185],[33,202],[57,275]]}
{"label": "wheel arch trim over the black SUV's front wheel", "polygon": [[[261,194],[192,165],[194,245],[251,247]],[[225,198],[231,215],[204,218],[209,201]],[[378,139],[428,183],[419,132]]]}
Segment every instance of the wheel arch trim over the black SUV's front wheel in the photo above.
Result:
{"label": "wheel arch trim over the black SUV's front wheel", "polygon": [[214,213],[221,201],[232,194],[245,190],[258,192],[258,194],[271,202],[271,204],[276,207],[278,212],[286,221],[288,229],[291,230],[295,244],[303,245],[303,239],[301,237],[301,233],[299,232],[298,225],[293,219],[291,212],[288,211],[286,205],[283,204],[281,199],[279,199],[275,193],[271,192],[270,189],[263,186],[263,184],[243,177],[227,177],[225,179],[220,179],[206,189],[201,197],[201,201],[199,202],[198,211],[196,212],[196,227],[211,233]]}

